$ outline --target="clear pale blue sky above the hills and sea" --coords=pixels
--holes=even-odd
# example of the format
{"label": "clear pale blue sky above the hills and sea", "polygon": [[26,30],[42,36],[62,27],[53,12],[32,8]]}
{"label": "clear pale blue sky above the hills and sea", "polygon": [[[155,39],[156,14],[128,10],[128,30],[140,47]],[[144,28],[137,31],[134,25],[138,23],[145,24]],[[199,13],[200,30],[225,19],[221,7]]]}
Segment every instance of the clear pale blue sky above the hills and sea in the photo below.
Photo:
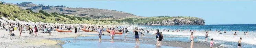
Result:
{"label": "clear pale blue sky above the hills and sea", "polygon": [[205,24],[256,24],[256,1],[4,1],[90,7],[124,11],[137,16],[190,16]]}

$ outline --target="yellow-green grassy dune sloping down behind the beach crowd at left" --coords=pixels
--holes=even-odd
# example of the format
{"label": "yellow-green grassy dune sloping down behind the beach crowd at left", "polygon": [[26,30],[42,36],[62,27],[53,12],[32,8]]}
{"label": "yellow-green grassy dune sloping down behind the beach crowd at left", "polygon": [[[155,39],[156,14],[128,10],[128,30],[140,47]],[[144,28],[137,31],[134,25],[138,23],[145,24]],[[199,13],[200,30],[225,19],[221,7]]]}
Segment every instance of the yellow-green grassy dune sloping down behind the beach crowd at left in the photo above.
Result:
{"label": "yellow-green grassy dune sloping down behind the beach crowd at left", "polygon": [[5,17],[10,20],[18,19],[20,21],[32,21],[32,22],[44,22],[44,23],[65,23],[65,24],[78,24],[78,23],[87,23],[87,24],[115,24],[122,25],[122,22],[116,21],[99,21],[95,19],[81,18],[81,17],[70,17],[64,14],[51,13],[48,14],[43,10],[40,10],[38,13],[34,13],[30,9],[21,9],[19,6],[15,5],[0,5],[0,16]]}

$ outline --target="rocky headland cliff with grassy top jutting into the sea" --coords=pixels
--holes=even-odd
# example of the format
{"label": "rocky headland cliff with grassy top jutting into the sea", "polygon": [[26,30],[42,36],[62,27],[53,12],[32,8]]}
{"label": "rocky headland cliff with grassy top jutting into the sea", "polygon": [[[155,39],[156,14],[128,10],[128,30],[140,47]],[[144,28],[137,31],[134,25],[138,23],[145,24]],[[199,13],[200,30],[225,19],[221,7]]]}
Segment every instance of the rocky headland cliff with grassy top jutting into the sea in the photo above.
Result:
{"label": "rocky headland cliff with grassy top jutting into the sea", "polygon": [[163,21],[151,21],[147,23],[138,23],[138,25],[157,26],[157,25],[204,25],[204,20],[201,18],[186,19],[186,18],[174,18]]}

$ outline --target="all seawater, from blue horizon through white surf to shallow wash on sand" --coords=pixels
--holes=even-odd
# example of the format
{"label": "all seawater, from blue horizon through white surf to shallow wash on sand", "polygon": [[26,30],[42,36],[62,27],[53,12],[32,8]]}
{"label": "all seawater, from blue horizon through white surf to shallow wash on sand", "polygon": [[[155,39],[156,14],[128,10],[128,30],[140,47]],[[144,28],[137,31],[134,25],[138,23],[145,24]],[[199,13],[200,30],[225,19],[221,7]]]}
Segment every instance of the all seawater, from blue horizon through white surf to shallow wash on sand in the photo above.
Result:
{"label": "all seawater, from blue horizon through white surf to shallow wash on sand", "polygon": [[[129,29],[132,29],[130,26]],[[197,29],[197,30],[208,30],[212,29],[208,33],[208,40],[205,40],[205,32],[194,32],[193,36],[194,42],[204,42],[209,43],[210,39],[214,39],[214,44],[219,44],[220,48],[237,48],[239,38],[242,38],[242,47],[243,48],[256,48],[256,32],[251,32],[251,30],[256,30],[256,25],[203,25],[203,26],[137,26],[138,28],[145,29]],[[219,34],[214,30],[221,30],[223,34]],[[227,33],[224,33],[223,30],[227,30]],[[240,30],[240,31],[231,31],[231,30]],[[241,31],[243,30],[243,31]],[[248,35],[244,35],[244,32],[250,30]],[[77,37],[75,38],[60,38],[56,40],[70,41],[66,42],[66,44],[62,44],[64,48],[136,48],[134,43],[134,33],[129,30],[129,34],[127,34],[127,39],[124,38],[124,34],[115,35],[114,42],[110,41],[108,35],[102,36],[102,42],[98,42],[98,36],[92,37]],[[149,33],[145,33],[145,36],[142,38],[146,38],[147,40],[155,41],[154,33],[156,31],[150,31]],[[179,31],[179,32],[166,32],[160,31],[164,35],[165,41],[181,41],[181,42],[190,42],[190,32],[189,31]],[[234,32],[237,32],[235,36],[233,36]],[[97,35],[97,34],[90,34]],[[141,38],[141,36],[140,36]],[[75,41],[75,42],[74,42]],[[140,40],[140,42],[148,42],[146,40]],[[141,44],[138,48],[179,48],[179,47],[171,47],[171,46],[161,46],[156,47],[151,44]],[[208,47],[206,47],[208,48]],[[215,48],[215,47],[214,47]]]}

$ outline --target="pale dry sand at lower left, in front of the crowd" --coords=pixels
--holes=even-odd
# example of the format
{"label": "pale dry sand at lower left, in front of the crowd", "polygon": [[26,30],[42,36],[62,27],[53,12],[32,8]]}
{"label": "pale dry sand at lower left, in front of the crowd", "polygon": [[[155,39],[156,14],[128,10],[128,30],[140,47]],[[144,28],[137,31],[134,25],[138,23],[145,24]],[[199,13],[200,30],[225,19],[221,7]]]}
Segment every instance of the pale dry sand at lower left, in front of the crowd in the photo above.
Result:
{"label": "pale dry sand at lower left, in front of the crowd", "polygon": [[[57,32],[52,31],[51,36],[49,33],[38,32],[37,37],[29,35],[29,31],[22,31],[22,36],[19,36],[19,31],[14,30],[15,36],[10,36],[9,31],[0,30],[0,48],[61,48],[60,40],[50,40],[50,38],[70,38],[70,37],[83,37],[95,36],[86,34],[97,34],[97,32],[79,32],[75,35],[74,32]],[[34,33],[34,32],[33,32]]]}

